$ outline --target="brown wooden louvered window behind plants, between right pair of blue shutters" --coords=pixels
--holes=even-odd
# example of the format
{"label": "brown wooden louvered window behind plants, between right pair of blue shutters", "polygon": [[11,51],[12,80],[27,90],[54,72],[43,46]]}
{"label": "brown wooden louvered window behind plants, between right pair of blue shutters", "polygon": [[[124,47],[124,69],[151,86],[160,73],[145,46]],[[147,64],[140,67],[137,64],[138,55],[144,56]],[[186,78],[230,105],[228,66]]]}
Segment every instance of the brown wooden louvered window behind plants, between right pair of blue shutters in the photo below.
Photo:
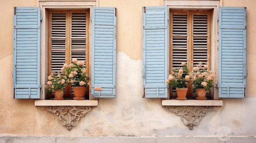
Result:
{"label": "brown wooden louvered window behind plants, between right pair of blue shutters", "polygon": [[[190,72],[198,62],[210,64],[210,10],[171,10],[170,37],[169,71],[182,62]],[[191,83],[188,88],[186,97],[193,97]],[[175,89],[170,88],[170,93],[177,97]]]}

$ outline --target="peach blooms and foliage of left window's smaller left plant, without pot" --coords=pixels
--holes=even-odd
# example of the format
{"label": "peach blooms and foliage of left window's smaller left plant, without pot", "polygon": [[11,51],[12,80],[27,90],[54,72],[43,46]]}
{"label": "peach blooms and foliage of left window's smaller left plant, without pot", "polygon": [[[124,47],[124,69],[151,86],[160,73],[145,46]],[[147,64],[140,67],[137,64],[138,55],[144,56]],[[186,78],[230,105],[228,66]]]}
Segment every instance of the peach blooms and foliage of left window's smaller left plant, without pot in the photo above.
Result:
{"label": "peach blooms and foliage of left window's smaller left plant, without pot", "polygon": [[56,74],[52,72],[48,76],[49,81],[47,82],[46,88],[49,93],[53,93],[57,89],[63,89],[66,84],[66,79],[61,73]]}

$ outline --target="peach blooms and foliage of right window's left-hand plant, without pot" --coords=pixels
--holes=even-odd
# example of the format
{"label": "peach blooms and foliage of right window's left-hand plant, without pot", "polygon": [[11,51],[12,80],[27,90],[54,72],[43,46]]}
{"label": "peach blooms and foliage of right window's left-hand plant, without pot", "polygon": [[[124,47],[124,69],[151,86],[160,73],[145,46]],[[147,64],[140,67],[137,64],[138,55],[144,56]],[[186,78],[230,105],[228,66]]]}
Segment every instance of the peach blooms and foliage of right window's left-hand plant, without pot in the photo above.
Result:
{"label": "peach blooms and foliage of right window's left-hand plant, without pot", "polygon": [[182,62],[182,67],[174,68],[166,80],[166,84],[173,88],[186,88],[188,81],[190,81],[189,69],[185,62]]}

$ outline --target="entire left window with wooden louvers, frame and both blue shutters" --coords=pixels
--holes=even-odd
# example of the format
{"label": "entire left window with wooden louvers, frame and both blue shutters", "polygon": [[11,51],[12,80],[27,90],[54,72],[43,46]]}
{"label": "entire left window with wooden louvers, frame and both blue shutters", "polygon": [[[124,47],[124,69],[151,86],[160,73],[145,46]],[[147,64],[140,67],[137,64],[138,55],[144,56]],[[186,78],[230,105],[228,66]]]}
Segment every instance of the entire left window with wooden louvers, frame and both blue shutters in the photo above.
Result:
{"label": "entire left window with wooden louvers, frame and both blue shutters", "polygon": [[[88,95],[115,98],[116,10],[92,7],[96,4],[40,1],[40,7],[14,8],[14,98],[45,99],[47,93],[41,85],[47,83],[48,74],[74,57],[85,60],[89,69]],[[102,90],[94,91],[94,87]],[[69,98],[72,91],[67,90]]]}

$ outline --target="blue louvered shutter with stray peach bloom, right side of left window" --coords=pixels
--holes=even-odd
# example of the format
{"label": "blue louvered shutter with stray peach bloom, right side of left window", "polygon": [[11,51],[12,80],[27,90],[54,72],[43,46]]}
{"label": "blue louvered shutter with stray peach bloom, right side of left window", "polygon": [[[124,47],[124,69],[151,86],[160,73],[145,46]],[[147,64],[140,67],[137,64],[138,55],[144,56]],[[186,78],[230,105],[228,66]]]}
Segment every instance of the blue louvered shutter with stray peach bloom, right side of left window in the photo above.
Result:
{"label": "blue louvered shutter with stray peach bloom, right side of left window", "polygon": [[116,22],[115,7],[92,7],[92,97],[116,95]]}

